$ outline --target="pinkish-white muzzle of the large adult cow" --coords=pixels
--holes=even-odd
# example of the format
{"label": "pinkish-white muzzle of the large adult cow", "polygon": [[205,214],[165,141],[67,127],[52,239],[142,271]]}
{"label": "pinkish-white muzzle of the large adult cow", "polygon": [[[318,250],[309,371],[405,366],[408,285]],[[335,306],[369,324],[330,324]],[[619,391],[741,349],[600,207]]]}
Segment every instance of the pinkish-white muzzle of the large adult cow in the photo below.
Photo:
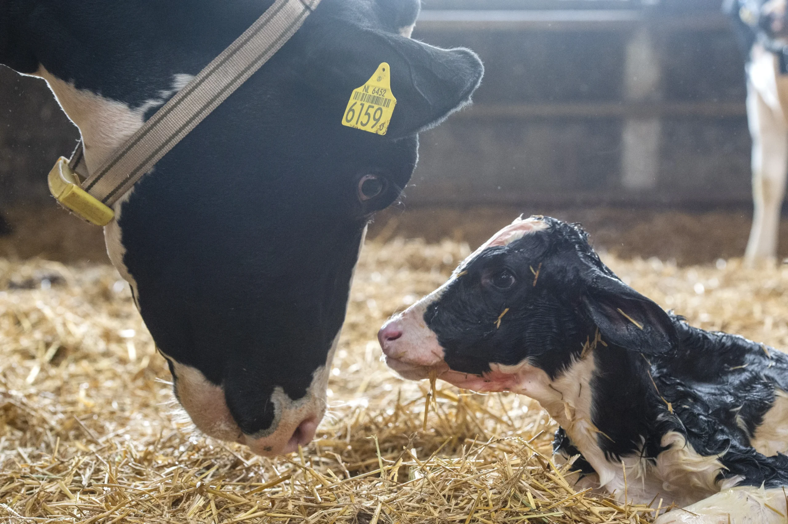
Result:
{"label": "pinkish-white muzzle of the large adult cow", "polygon": [[325,399],[312,398],[313,395],[293,402],[277,388],[271,399],[280,407],[278,420],[274,421],[275,429],[257,437],[243,434],[232,418],[221,387],[209,382],[195,367],[173,362],[173,368],[177,377],[176,396],[197,429],[221,441],[247,445],[257,455],[275,456],[298,451],[299,445],[306,446],[312,441],[325,414]]}

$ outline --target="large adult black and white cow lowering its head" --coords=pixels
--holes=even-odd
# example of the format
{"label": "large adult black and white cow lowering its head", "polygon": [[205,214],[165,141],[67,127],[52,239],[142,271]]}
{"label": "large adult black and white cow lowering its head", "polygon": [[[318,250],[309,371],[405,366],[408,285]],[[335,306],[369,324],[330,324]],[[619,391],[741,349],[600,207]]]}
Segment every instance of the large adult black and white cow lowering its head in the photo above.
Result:
{"label": "large adult black and white cow lowering its head", "polygon": [[[0,0],[0,63],[46,80],[94,170],[272,0]],[[466,104],[470,50],[410,39],[418,0],[323,0],[284,47],[115,205],[110,259],[204,433],[306,444],[373,212],[417,133]],[[381,62],[385,136],[341,125]]]}

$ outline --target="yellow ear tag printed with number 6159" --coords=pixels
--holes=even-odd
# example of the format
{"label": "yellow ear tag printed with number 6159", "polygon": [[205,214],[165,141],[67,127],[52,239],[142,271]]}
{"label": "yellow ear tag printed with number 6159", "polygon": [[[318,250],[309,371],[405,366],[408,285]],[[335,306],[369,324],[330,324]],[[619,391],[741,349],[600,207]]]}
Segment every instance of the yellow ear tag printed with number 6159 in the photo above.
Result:
{"label": "yellow ear tag printed with number 6159", "polygon": [[392,120],[396,98],[392,94],[391,68],[383,62],[366,83],[353,90],[342,125],[385,135]]}

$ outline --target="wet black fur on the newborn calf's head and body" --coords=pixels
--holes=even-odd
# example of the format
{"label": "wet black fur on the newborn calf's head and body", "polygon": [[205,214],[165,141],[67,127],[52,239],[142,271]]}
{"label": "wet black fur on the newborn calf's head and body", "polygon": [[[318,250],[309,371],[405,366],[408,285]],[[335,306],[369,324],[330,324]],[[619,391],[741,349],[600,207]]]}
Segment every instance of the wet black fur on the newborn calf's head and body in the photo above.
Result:
{"label": "wet black fur on the newborn calf's head and body", "polygon": [[[545,220],[545,231],[481,253],[428,306],[424,318],[449,367],[481,375],[491,362],[528,359],[555,377],[598,329],[606,347],[594,352],[604,372],[593,378],[592,422],[606,456],[656,458],[663,434],[677,431],[701,455],[724,453],[719,460],[727,469],[719,478],[788,484],[788,458],[750,446],[775,389],[788,389],[788,356],[738,335],[689,326],[621,282],[578,224]],[[515,284],[495,286],[506,273]],[[563,430],[555,445],[556,452],[578,453]],[[585,461],[578,466],[590,472]]]}

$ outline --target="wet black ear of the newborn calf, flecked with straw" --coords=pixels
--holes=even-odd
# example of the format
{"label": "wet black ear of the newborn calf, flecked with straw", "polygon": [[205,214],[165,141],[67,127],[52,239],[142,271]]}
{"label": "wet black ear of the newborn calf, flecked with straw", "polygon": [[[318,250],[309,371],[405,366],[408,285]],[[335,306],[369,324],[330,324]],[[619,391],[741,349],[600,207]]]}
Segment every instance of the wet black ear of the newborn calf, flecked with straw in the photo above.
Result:
{"label": "wet black ear of the newborn calf, flecked with straw", "polygon": [[603,341],[645,355],[670,352],[677,344],[675,325],[663,308],[619,279],[594,271],[582,301]]}

